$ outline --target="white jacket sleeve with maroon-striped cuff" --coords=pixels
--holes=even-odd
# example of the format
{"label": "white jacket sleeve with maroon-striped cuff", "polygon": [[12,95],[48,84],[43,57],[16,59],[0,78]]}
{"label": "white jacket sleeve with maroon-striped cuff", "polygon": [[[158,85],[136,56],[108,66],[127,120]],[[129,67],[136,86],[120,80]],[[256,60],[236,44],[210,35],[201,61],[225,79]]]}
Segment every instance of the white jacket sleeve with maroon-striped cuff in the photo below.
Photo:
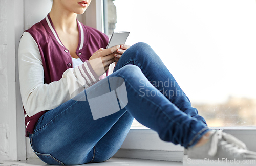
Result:
{"label": "white jacket sleeve with maroon-striped cuff", "polygon": [[38,45],[24,32],[19,43],[18,66],[23,106],[29,116],[51,110],[99,81],[89,62],[67,69],[59,81],[44,83],[44,68]]}

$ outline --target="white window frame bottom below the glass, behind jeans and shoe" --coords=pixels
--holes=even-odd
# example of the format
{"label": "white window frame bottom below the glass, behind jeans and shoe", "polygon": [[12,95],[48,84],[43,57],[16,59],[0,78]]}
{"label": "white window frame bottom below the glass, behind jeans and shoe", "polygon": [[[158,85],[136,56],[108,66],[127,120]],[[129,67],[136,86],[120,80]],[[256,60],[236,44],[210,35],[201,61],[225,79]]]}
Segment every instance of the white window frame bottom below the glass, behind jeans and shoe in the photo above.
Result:
{"label": "white window frame bottom below the glass, behind jeans and shoe", "polygon": [[[249,150],[256,151],[256,127],[210,127],[221,129],[242,140]],[[184,148],[161,140],[157,132],[146,127],[132,127],[114,157],[178,161],[183,159]]]}

